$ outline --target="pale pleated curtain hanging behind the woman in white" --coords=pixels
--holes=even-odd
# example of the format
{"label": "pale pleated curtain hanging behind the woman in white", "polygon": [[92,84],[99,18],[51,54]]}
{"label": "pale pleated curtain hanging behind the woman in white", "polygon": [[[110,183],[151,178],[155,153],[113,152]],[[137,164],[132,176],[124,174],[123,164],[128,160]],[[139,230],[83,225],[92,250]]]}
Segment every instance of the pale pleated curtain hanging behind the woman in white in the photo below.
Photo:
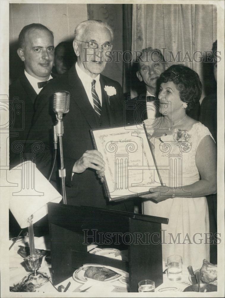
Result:
{"label": "pale pleated curtain hanging behind the woman in white", "polygon": [[[134,4],[132,11],[132,52],[148,46],[161,49],[169,66],[185,64],[195,70],[202,81],[202,98],[215,88],[212,63],[195,62],[211,51],[217,36],[216,5],[207,4]],[[180,51],[180,60],[173,61]],[[170,59],[171,58],[171,59]],[[184,59],[185,58],[185,59]],[[182,61],[184,60],[184,61]],[[137,82],[136,82],[137,84]],[[132,86],[136,85],[134,82]],[[135,88],[131,95],[136,96]]]}

